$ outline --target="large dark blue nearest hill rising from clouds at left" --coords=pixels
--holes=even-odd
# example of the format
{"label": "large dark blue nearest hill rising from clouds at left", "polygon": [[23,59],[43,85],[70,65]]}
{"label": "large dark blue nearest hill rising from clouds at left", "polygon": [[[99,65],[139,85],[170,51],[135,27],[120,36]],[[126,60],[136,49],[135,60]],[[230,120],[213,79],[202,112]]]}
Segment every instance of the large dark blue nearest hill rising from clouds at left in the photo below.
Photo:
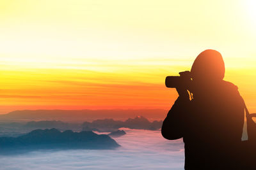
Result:
{"label": "large dark blue nearest hill rising from clouds at left", "polygon": [[106,134],[92,131],[60,132],[57,129],[36,129],[17,138],[1,137],[0,152],[34,149],[113,149],[120,145]]}

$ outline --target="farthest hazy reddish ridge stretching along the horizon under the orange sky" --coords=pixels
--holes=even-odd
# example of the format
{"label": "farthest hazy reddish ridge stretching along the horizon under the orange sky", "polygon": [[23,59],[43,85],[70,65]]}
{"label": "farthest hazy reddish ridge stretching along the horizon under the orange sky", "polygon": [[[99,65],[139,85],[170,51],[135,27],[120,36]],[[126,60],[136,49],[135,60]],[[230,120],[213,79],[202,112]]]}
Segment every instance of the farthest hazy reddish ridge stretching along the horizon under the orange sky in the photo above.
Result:
{"label": "farthest hazy reddish ridge stretching along the horizon under the orange sky", "polygon": [[0,121],[61,120],[64,122],[84,122],[99,118],[124,120],[137,115],[161,120],[166,116],[166,110],[20,110],[0,115]]}

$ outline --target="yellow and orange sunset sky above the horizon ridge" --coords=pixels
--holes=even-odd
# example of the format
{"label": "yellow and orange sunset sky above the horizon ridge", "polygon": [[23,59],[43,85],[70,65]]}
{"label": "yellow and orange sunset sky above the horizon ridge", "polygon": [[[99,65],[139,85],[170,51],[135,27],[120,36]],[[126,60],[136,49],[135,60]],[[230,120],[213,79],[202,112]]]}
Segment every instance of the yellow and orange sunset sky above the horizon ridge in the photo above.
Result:
{"label": "yellow and orange sunset sky above the horizon ridge", "polygon": [[164,79],[221,52],[256,112],[256,1],[0,0],[0,114],[168,110]]}

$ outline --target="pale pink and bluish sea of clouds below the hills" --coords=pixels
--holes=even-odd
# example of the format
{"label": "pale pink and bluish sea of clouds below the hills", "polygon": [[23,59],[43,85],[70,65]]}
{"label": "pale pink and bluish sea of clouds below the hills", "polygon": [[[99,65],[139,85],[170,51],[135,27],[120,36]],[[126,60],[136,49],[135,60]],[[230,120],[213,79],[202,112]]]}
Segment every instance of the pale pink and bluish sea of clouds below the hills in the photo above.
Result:
{"label": "pale pink and bluish sea of clouds below the hills", "polygon": [[184,169],[184,144],[160,131],[122,128],[115,150],[42,150],[0,155],[0,169]]}

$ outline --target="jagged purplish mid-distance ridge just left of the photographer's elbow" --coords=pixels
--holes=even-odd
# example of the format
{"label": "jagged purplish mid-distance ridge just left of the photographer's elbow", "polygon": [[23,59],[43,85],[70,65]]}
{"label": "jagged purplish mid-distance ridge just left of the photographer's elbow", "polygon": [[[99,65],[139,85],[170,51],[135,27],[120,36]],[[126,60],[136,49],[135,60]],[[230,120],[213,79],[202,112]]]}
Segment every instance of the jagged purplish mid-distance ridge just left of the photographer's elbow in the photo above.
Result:
{"label": "jagged purplish mid-distance ridge just left of the photographer's elbow", "polygon": [[145,129],[145,130],[158,130],[161,128],[163,121],[149,122],[145,117],[128,118],[127,120],[113,120],[103,119],[94,120],[93,122],[84,122],[82,124],[84,131],[98,131],[98,132],[113,132],[120,127],[127,127],[130,129]]}

